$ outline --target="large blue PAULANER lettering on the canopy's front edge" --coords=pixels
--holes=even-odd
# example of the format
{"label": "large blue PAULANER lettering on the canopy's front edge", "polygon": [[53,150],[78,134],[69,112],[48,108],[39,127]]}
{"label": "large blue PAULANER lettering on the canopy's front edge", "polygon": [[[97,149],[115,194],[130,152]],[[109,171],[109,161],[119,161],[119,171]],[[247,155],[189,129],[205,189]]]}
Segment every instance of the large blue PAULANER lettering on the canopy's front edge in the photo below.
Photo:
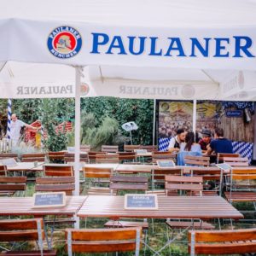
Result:
{"label": "large blue PAULANER lettering on the canopy's front edge", "polygon": [[[255,57],[252,38],[158,38],[140,36],[109,36],[92,32],[91,54],[152,55],[167,57]],[[162,45],[159,47],[158,45]],[[164,45],[164,46],[163,46]]]}

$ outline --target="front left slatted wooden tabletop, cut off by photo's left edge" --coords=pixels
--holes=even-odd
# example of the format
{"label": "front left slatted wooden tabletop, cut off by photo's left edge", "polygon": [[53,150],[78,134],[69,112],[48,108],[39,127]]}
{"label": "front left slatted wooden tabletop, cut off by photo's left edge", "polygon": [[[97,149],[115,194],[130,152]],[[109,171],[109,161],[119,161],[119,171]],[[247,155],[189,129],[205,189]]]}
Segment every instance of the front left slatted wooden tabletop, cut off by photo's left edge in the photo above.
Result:
{"label": "front left slatted wooden tabletop, cut off by photo's left edge", "polygon": [[67,196],[65,207],[33,207],[33,197],[0,197],[0,216],[20,215],[75,215],[86,196]]}

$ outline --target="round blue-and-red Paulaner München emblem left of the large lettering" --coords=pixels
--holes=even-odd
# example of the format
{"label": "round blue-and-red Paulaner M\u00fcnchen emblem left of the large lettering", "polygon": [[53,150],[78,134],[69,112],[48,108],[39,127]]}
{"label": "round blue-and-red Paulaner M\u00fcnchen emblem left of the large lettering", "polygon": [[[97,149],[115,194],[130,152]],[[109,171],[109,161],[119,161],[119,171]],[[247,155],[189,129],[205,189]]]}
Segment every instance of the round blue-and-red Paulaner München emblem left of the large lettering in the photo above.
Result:
{"label": "round blue-and-red Paulaner M\u00fcnchen emblem left of the large lettering", "polygon": [[47,45],[52,55],[67,59],[79,53],[82,47],[82,38],[73,27],[59,26],[49,34]]}

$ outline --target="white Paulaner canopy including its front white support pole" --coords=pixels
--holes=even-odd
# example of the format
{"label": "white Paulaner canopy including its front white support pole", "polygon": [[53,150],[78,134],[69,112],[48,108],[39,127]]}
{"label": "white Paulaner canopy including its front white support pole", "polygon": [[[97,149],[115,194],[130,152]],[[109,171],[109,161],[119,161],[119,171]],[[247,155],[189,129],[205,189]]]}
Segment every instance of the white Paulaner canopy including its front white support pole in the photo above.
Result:
{"label": "white Paulaner canopy including its front white support pole", "polygon": [[84,96],[255,99],[255,0],[1,3],[2,97],[75,93],[77,195],[81,83]]}

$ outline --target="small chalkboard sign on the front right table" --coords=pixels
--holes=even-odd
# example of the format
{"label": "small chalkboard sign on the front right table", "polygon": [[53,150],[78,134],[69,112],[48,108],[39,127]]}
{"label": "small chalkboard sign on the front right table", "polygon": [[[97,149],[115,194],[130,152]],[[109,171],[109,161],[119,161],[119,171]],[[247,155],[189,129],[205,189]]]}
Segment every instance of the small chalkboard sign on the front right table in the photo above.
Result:
{"label": "small chalkboard sign on the front right table", "polygon": [[157,195],[126,194],[125,209],[129,210],[157,210]]}

